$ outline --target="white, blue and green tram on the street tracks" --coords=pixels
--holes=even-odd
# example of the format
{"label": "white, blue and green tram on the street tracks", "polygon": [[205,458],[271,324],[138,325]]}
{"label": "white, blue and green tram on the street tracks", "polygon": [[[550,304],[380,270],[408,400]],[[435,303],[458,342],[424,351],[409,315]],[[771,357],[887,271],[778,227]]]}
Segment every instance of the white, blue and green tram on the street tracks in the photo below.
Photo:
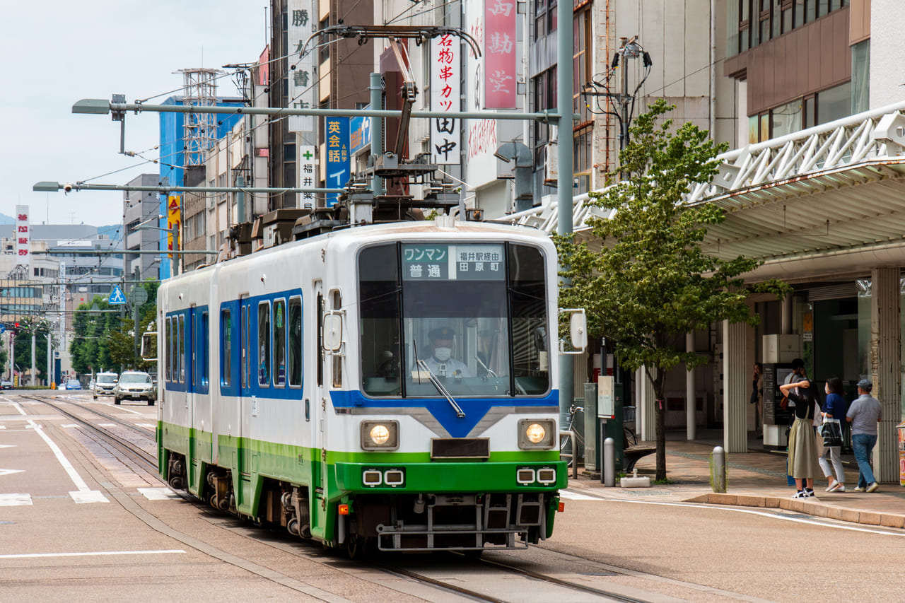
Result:
{"label": "white, blue and green tram on the street tracks", "polygon": [[364,225],[176,276],[157,300],[173,488],[353,556],[551,535],[567,469],[547,235]]}

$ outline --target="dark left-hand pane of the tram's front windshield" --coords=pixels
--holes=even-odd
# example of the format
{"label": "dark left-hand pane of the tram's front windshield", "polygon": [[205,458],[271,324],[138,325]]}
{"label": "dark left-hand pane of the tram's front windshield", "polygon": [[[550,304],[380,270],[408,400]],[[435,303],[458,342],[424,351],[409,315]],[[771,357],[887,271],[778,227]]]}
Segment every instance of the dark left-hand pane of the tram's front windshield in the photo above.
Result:
{"label": "dark left-hand pane of the tram's front windshield", "polygon": [[369,396],[399,396],[402,311],[396,245],[363,249],[358,255],[358,280],[362,389]]}

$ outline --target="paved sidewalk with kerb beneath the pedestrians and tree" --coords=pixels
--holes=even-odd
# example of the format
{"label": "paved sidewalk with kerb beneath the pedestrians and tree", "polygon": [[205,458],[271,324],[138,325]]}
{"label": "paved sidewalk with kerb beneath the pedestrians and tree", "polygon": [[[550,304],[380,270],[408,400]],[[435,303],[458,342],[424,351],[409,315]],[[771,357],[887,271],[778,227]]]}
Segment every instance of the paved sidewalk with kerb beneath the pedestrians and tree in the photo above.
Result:
{"label": "paved sidewalk with kerb beneath the pedestrians and tree", "polygon": [[[589,477],[579,467],[578,479],[570,487],[593,489],[606,498],[702,504],[729,504],[771,507],[828,517],[843,522],[905,528],[905,487],[881,483],[874,493],[857,493],[858,465],[852,455],[843,455],[845,493],[824,492],[827,480],[814,480],[814,498],[793,499],[795,486],[786,485],[786,453],[768,451],[760,440],[748,442],[748,453],[727,455],[727,492],[710,488],[710,454],[722,445],[722,432],[704,431],[699,439],[687,441],[684,432],[666,436],[666,474],[669,484],[650,488],[606,488],[600,478]],[[645,443],[653,444],[653,443]],[[635,465],[639,475],[650,476],[656,469],[654,455],[644,456]]]}

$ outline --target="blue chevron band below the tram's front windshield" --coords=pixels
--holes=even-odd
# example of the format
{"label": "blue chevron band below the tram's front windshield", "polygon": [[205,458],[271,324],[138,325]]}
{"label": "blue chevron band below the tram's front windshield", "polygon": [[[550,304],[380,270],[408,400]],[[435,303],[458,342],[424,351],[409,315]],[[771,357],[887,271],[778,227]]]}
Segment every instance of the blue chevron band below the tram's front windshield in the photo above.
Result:
{"label": "blue chevron band below the tram's front windshield", "polygon": [[386,408],[388,414],[395,408],[426,408],[452,437],[468,436],[474,426],[493,408],[498,407],[557,407],[559,392],[554,389],[544,397],[457,397],[465,416],[456,416],[452,405],[443,397],[366,397],[360,390],[330,391],[334,408]]}

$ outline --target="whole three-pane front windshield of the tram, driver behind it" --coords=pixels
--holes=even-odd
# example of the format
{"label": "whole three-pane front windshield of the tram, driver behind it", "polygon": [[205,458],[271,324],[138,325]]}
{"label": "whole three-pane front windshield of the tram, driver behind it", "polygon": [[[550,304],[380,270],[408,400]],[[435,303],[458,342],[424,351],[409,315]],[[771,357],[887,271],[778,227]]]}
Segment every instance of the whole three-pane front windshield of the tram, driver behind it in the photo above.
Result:
{"label": "whole three-pane front windshield of the tram, driver behind it", "polygon": [[544,268],[541,251],[522,244],[386,244],[362,250],[364,392],[546,394]]}

